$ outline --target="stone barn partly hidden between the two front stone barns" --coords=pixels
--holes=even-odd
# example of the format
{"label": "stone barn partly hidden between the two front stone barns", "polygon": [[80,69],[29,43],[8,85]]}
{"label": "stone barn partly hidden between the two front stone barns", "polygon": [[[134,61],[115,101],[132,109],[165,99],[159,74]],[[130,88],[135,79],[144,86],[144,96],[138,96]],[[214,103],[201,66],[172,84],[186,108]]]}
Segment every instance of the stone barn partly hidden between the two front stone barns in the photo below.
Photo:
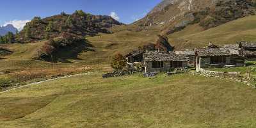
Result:
{"label": "stone barn partly hidden between the two front stone barns", "polygon": [[184,55],[188,58],[188,66],[195,67],[196,66],[196,56],[195,51],[193,50],[184,50],[184,51],[175,51],[176,54]]}

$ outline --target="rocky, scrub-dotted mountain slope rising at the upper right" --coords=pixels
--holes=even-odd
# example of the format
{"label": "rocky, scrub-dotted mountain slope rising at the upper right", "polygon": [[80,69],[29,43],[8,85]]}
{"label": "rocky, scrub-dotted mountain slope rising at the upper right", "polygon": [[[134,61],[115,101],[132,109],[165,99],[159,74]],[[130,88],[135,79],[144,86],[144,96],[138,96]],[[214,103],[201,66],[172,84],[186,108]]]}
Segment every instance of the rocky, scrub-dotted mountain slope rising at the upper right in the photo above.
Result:
{"label": "rocky, scrub-dotted mountain slope rising at the upper right", "polygon": [[135,22],[141,26],[159,26],[163,34],[184,29],[189,24],[200,23],[204,29],[254,15],[254,0],[164,0],[148,15]]}

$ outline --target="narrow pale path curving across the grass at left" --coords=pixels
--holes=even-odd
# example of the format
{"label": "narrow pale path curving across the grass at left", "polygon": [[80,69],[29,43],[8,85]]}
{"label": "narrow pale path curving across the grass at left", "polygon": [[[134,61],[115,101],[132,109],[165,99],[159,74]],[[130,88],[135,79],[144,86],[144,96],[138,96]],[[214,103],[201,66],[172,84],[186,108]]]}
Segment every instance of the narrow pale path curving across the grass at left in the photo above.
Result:
{"label": "narrow pale path curving across the grass at left", "polygon": [[56,78],[52,78],[52,79],[47,79],[47,80],[44,80],[44,81],[38,81],[38,82],[35,82],[35,83],[30,83],[30,84],[26,84],[26,85],[23,85],[23,86],[18,86],[16,88],[10,88],[9,90],[5,90],[3,92],[0,92],[0,94],[6,93],[6,92],[10,92],[12,90],[17,90],[19,88],[24,88],[26,86],[31,86],[31,85],[35,85],[35,84],[45,83],[47,81],[55,81],[57,79],[64,79],[64,78],[74,77],[74,76],[84,76],[84,75],[88,75],[88,74],[92,74],[92,73],[93,72],[87,72],[87,73],[83,73],[83,74],[68,75],[68,76],[62,76],[62,77],[56,77]]}

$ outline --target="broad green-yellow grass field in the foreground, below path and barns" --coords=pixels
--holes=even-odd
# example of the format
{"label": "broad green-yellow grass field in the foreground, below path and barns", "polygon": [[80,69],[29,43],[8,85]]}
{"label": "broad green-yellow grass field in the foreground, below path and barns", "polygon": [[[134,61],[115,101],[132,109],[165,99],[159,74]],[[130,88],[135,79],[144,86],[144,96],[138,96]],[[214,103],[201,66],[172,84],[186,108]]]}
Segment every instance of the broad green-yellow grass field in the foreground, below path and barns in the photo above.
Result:
{"label": "broad green-yellow grass field in the foreground, below path and barns", "polygon": [[255,127],[255,90],[179,74],[60,79],[0,95],[0,127]]}

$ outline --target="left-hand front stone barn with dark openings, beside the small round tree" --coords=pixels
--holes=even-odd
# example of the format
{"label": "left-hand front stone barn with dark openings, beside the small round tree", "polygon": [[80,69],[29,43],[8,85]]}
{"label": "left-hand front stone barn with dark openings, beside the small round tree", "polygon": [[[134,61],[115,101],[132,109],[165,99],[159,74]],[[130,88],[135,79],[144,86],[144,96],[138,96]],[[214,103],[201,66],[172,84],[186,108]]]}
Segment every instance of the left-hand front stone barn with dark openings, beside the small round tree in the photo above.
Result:
{"label": "left-hand front stone barn with dark openings, beside the small round tree", "polygon": [[145,72],[168,72],[172,68],[188,67],[188,58],[175,52],[147,51],[143,54]]}

